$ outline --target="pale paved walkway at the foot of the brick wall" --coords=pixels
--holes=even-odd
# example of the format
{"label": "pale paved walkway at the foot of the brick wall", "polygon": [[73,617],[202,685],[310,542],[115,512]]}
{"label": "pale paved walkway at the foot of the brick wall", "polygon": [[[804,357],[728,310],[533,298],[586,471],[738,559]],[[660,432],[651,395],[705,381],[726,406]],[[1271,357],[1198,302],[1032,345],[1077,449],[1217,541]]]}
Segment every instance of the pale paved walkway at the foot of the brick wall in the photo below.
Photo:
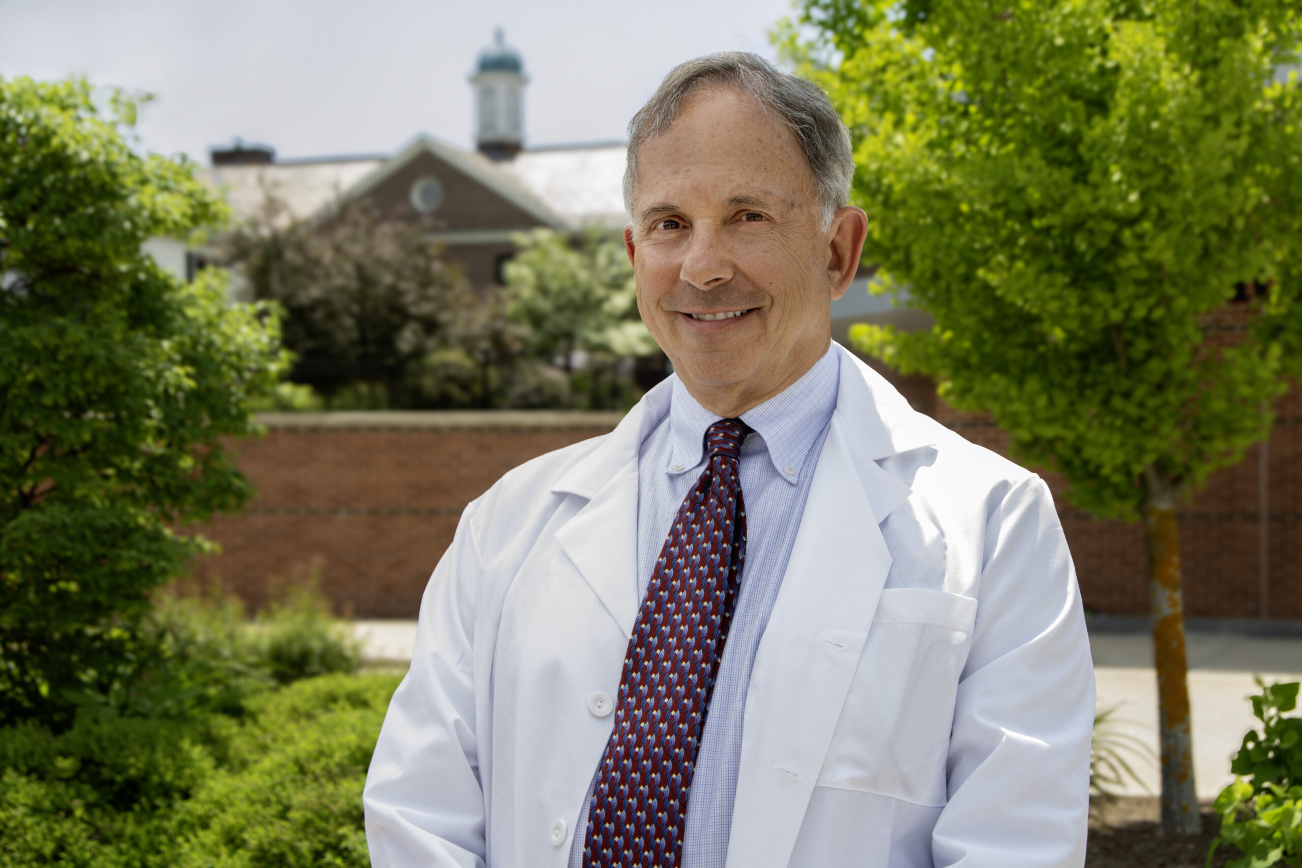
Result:
{"label": "pale paved walkway at the foot of the brick wall", "polygon": [[[414,621],[357,621],[363,656],[371,662],[406,664],[415,640]],[[1112,720],[1147,746],[1128,755],[1142,783],[1130,795],[1156,794],[1157,679],[1152,643],[1143,634],[1090,638],[1099,708],[1115,708]],[[1194,712],[1194,776],[1198,795],[1213,798],[1233,780],[1229,756],[1256,722],[1247,701],[1256,692],[1254,674],[1267,681],[1302,679],[1302,639],[1263,639],[1224,634],[1189,636],[1189,691]]]}

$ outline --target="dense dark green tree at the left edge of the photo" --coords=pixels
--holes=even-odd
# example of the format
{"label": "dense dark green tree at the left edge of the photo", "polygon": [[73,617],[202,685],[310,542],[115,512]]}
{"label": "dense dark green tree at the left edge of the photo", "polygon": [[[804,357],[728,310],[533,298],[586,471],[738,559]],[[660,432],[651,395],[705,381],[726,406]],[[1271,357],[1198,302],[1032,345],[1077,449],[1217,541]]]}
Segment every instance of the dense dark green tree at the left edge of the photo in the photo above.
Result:
{"label": "dense dark green tree at the left edge of the photo", "polygon": [[133,150],[134,113],[0,79],[0,726],[121,688],[150,590],[203,547],[176,528],[249,496],[221,437],[283,368],[268,311],[142,252],[225,208]]}

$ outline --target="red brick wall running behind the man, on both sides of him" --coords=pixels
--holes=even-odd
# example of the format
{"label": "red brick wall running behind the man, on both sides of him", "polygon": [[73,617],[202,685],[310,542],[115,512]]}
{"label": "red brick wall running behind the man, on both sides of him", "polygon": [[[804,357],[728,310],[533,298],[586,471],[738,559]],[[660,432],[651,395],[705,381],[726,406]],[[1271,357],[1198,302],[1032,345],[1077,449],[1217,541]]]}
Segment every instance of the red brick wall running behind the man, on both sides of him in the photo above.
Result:
{"label": "red brick wall running behind the man, on both sides of him", "polygon": [[[1003,452],[987,416],[958,414],[918,383],[915,406],[969,440]],[[1269,614],[1302,618],[1302,393],[1285,396],[1267,446]],[[322,587],[357,617],[415,616],[430,570],[467,502],[512,467],[611,431],[617,414],[368,413],[268,414],[266,437],[233,446],[258,489],[242,515],[204,528],[224,552],[195,573],[253,606],[270,583],[318,570]],[[1193,617],[1259,613],[1258,452],[1215,474],[1181,506],[1186,609]],[[1060,480],[1046,475],[1057,493]],[[1098,521],[1061,497],[1059,511],[1090,609],[1147,612],[1143,534]]]}

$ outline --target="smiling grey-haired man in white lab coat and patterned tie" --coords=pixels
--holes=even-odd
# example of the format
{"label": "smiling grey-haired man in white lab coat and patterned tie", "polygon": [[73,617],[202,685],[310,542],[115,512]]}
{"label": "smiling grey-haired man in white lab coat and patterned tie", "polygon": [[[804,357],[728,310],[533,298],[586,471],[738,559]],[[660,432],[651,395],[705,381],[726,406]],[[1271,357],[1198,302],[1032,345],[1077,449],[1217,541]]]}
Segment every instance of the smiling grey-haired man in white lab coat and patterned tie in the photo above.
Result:
{"label": "smiling grey-haired man in white lab coat and patterned tie", "polygon": [[867,232],[754,55],[630,124],[661,383],[466,508],[365,803],[376,868],[1081,865],[1094,678],[1043,481],[831,341]]}

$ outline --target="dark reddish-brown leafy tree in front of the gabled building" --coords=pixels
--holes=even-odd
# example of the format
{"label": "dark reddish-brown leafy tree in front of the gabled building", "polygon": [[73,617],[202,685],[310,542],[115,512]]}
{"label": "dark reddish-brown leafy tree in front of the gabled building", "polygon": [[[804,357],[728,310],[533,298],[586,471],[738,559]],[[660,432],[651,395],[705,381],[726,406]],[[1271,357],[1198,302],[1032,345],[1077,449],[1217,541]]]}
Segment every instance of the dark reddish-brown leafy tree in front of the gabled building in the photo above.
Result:
{"label": "dark reddish-brown leafy tree in front of the gabled building", "polygon": [[253,297],[285,311],[294,381],[327,400],[361,383],[376,385],[384,406],[422,406],[426,359],[491,324],[424,221],[387,220],[365,202],[293,221],[268,195],[223,245]]}

